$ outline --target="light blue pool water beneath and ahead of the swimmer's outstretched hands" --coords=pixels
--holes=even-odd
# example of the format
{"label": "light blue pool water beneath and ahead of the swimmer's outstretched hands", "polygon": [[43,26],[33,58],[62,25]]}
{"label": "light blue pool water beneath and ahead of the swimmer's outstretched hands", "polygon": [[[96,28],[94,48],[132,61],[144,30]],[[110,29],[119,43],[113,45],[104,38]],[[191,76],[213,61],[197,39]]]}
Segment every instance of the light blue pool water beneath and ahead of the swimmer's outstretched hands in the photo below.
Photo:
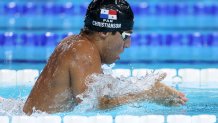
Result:
{"label": "light blue pool water beneath and ahead of the swimmer's outstretched hands", "polygon": [[[200,115],[212,114],[218,116],[218,89],[180,89],[189,101],[184,106],[166,107],[148,102],[131,103],[109,110],[84,112],[79,115]],[[77,112],[69,112],[67,115],[77,115]]]}

